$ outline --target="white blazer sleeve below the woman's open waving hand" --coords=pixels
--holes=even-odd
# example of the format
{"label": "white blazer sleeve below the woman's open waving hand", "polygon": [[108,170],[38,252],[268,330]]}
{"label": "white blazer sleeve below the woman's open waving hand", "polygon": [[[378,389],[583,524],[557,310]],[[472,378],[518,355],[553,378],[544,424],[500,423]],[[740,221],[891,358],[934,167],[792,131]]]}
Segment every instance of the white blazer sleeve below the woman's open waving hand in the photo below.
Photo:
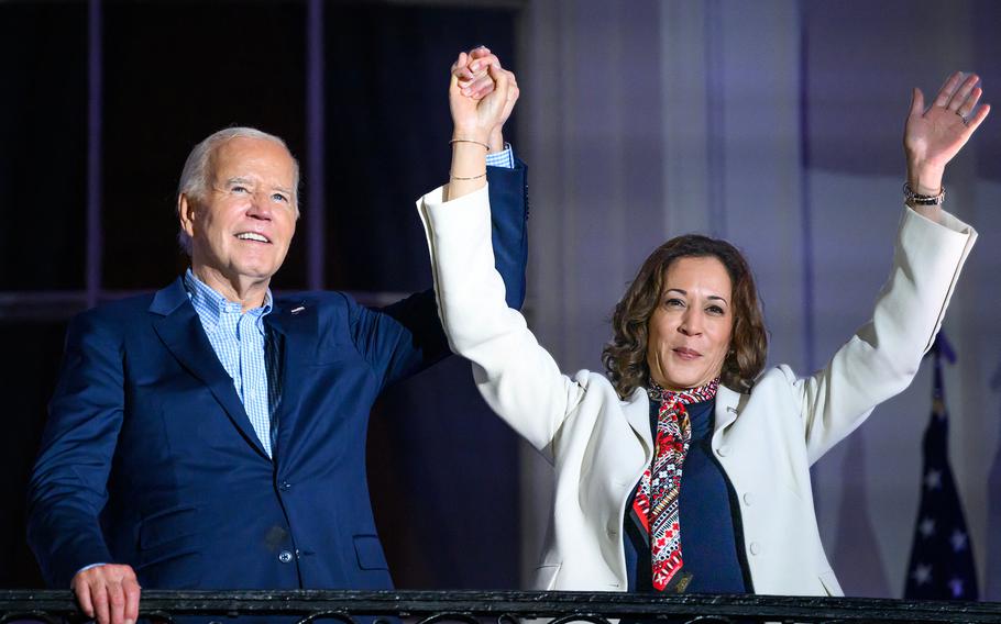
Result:
{"label": "white blazer sleeve below the woman's open waving hand", "polygon": [[905,207],[872,319],[815,375],[795,379],[783,367],[802,405],[811,464],[910,386],[976,239],[972,227],[947,212],[937,224]]}

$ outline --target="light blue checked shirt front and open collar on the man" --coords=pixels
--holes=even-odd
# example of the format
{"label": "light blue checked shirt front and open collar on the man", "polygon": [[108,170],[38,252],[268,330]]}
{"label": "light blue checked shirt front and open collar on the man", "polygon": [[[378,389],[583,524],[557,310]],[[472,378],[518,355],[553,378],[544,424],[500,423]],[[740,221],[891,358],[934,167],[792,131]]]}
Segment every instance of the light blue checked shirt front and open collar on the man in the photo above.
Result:
{"label": "light blue checked shirt front and open collar on the man", "polygon": [[254,425],[264,452],[271,457],[274,397],[268,392],[265,366],[267,332],[264,327],[264,316],[271,313],[272,308],[271,289],[264,297],[263,307],[243,312],[240,303],[228,301],[195,277],[191,269],[185,272],[184,285],[212,349],[233,379],[243,409]]}

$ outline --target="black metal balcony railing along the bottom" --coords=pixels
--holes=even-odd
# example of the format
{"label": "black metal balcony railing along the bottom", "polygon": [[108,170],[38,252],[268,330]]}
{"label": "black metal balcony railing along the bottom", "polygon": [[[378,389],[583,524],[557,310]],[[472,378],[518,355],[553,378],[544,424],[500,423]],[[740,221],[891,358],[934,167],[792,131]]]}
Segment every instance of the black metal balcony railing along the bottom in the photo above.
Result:
{"label": "black metal balcony railing along the bottom", "polygon": [[[288,622],[356,624],[405,619],[417,624],[549,624],[609,621],[661,623],[803,622],[991,622],[1001,623],[1001,603],[858,598],[510,591],[156,591],[143,592],[141,617],[173,622],[201,616],[224,624],[240,616],[284,616]],[[0,591],[0,624],[15,621],[85,621],[68,591]],[[235,624],[239,620],[234,620]],[[541,624],[541,623],[540,623]]]}

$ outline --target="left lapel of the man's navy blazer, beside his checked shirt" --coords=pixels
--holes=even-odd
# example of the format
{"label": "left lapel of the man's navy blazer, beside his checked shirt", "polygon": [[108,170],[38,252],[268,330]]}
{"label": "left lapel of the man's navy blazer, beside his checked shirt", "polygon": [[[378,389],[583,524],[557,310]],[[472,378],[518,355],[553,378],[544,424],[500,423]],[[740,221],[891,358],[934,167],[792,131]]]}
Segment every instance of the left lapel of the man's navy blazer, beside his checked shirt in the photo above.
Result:
{"label": "left lapel of the man's navy blazer, beside his checked shirt", "polygon": [[267,459],[267,454],[261,446],[261,441],[257,439],[257,434],[243,409],[243,403],[237,395],[233,380],[222,367],[208,336],[205,335],[201,321],[188,299],[180,278],[153,297],[150,312],[154,314],[153,328],[163,341],[164,346],[182,366],[208,386],[227,416],[240,430],[246,442]]}

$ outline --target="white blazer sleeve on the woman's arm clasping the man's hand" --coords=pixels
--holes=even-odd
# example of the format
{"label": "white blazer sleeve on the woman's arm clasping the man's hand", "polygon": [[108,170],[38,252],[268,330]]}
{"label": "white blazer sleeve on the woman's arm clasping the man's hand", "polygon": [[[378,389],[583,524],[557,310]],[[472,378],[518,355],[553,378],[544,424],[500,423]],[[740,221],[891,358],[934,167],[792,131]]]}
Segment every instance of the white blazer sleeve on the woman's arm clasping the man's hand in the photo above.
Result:
{"label": "white blazer sleeve on the woman's arm clasping the man's hand", "polygon": [[[490,197],[493,197],[492,194]],[[438,311],[457,354],[490,406],[536,448],[551,444],[584,389],[562,375],[525,317],[505,303],[494,268],[488,190],[450,202],[437,189],[418,201],[431,254]]]}

